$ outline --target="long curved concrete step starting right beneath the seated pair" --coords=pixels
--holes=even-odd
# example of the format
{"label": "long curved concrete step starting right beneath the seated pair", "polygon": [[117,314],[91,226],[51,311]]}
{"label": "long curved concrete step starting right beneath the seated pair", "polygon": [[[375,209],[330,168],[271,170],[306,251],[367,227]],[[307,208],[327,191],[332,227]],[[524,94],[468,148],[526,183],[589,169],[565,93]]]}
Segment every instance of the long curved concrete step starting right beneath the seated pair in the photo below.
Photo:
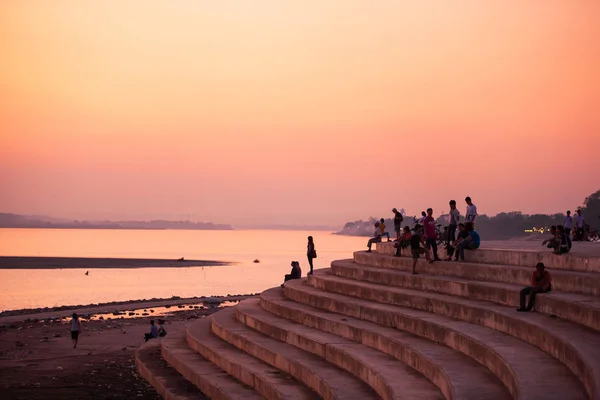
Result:
{"label": "long curved concrete step starting right beneath the seated pair", "polygon": [[535,399],[540,393],[545,399],[554,400],[588,398],[565,365],[540,349],[493,329],[425,311],[325,292],[300,280],[287,282],[284,295],[298,303],[443,343],[486,366],[515,398]]}

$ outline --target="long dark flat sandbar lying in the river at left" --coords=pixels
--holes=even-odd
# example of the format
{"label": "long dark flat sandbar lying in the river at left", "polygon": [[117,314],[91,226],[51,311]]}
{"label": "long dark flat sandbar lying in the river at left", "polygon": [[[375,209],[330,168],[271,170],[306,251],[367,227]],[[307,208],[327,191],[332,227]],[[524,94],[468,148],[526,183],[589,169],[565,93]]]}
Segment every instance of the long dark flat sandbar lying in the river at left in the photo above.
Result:
{"label": "long dark flat sandbar lying in the river at left", "polygon": [[145,258],[0,257],[0,269],[180,268],[231,264],[233,263],[227,261]]}

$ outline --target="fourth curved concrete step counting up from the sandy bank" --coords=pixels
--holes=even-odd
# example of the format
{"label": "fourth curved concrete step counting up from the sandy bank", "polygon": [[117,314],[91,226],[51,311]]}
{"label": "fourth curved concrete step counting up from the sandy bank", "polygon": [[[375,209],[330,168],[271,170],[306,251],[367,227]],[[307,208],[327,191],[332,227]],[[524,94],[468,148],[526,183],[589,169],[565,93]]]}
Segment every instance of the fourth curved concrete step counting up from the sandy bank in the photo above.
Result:
{"label": "fourth curved concrete step counting up from the sandy bank", "polygon": [[212,318],[213,333],[238,349],[293,376],[315,390],[325,400],[379,398],[368,385],[346,371],[314,354],[267,337],[245,326],[237,320],[235,313],[234,308],[215,313]]}

